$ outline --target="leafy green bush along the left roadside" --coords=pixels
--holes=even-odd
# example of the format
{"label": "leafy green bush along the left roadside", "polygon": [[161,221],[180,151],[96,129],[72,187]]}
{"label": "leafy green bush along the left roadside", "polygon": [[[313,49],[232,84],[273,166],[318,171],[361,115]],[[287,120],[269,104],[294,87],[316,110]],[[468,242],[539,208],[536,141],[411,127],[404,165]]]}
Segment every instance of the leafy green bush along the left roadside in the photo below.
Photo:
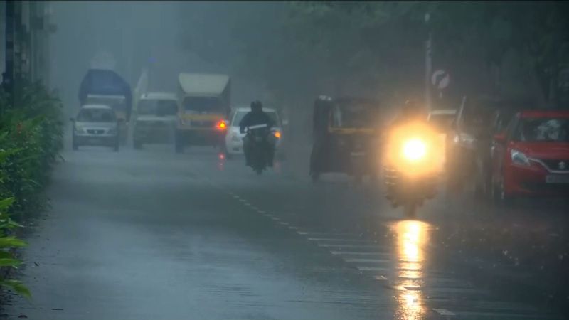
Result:
{"label": "leafy green bush along the left roadside", "polygon": [[[16,221],[45,208],[43,189],[63,140],[60,100],[40,83],[18,83],[11,94],[0,91],[0,267],[9,268],[21,264],[14,249],[26,245],[14,236],[22,227]],[[0,276],[0,286],[29,296],[14,279]]]}

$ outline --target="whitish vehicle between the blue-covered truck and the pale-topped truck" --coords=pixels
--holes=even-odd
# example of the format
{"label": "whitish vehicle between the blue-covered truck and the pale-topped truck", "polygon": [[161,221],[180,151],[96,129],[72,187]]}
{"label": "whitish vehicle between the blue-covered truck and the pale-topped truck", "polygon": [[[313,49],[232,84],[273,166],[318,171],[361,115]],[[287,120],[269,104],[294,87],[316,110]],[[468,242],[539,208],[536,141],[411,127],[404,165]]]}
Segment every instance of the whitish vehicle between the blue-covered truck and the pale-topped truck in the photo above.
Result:
{"label": "whitish vehicle between the blue-covered truck and the pale-topped truck", "polygon": [[134,112],[134,149],[142,148],[143,144],[174,142],[178,113],[178,98],[175,93],[145,93],[140,97]]}

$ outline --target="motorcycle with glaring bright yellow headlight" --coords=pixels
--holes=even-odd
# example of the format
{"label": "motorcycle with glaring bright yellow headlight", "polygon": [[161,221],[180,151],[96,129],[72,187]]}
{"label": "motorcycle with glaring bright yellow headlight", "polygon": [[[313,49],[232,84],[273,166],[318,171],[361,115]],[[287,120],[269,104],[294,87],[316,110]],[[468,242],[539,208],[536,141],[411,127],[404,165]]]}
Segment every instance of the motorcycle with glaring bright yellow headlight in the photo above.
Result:
{"label": "motorcycle with glaring bright yellow headlight", "polygon": [[435,131],[422,123],[389,134],[383,165],[385,197],[394,208],[402,206],[406,218],[415,218],[418,208],[437,195],[442,146]]}

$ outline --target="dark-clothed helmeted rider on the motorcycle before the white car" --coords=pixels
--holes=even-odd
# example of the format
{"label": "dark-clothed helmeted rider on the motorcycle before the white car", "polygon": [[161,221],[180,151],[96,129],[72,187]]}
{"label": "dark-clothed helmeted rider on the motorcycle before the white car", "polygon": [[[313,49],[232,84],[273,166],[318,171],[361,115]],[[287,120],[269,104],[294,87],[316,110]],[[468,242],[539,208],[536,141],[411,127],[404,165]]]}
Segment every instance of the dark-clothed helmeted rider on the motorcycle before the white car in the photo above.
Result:
{"label": "dark-clothed helmeted rider on the motorcycle before the white car", "polygon": [[[270,130],[275,125],[275,122],[272,121],[268,114],[262,111],[262,103],[259,100],[255,100],[251,102],[251,111],[245,114],[245,117],[239,122],[239,132],[245,133],[246,127],[260,124],[267,124],[267,130]],[[272,167],[272,161],[275,156],[275,142],[272,139],[268,139],[267,142],[267,152],[269,152],[268,166]],[[245,153],[245,165],[251,166],[251,142],[248,136],[243,138],[243,152]]]}

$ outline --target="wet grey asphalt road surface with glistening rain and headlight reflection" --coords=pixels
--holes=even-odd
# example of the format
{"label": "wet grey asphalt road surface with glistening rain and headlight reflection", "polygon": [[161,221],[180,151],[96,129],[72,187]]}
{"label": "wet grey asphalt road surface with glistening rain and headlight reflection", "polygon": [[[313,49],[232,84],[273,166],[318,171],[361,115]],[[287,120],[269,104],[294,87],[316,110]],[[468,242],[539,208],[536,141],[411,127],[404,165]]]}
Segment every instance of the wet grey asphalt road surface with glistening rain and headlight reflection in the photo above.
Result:
{"label": "wet grey asphalt road surface with glistening rain and headlight reflection", "polygon": [[564,204],[441,196],[402,220],[367,182],[263,176],[211,148],[65,151],[4,319],[564,319]]}

